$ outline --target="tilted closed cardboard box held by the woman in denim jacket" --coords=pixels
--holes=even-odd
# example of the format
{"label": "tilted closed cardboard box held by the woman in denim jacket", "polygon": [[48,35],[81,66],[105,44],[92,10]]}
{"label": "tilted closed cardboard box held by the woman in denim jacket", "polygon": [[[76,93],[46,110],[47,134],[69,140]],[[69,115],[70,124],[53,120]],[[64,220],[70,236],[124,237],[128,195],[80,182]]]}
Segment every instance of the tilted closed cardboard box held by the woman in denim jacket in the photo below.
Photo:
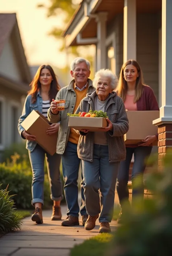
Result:
{"label": "tilted closed cardboard box held by the woman in denim jacket", "polygon": [[56,153],[57,137],[58,133],[48,135],[47,129],[50,127],[48,119],[44,117],[38,111],[32,110],[32,112],[21,123],[21,126],[27,131],[27,133],[36,136],[36,142],[45,149],[50,155]]}

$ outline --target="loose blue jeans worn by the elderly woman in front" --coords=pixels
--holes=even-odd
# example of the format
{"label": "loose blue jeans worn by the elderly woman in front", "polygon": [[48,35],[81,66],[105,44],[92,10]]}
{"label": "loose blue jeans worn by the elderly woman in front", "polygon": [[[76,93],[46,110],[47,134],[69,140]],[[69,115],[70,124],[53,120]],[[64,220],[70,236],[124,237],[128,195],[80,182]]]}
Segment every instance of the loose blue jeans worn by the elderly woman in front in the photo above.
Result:
{"label": "loose blue jeans worn by the elderly woman in front", "polygon": [[[111,222],[119,162],[109,162],[108,146],[94,144],[93,162],[82,160],[87,214],[100,214],[99,222]],[[101,202],[99,196],[101,192]]]}

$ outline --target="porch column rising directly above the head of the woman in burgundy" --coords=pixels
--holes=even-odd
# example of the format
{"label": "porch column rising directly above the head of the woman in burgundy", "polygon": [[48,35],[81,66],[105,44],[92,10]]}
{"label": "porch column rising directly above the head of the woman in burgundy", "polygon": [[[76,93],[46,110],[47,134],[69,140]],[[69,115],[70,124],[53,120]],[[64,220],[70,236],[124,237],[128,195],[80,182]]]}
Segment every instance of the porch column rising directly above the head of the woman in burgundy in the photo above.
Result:
{"label": "porch column rising directly above the head of the woman in burgundy", "polygon": [[136,60],[136,0],[124,0],[123,63]]}

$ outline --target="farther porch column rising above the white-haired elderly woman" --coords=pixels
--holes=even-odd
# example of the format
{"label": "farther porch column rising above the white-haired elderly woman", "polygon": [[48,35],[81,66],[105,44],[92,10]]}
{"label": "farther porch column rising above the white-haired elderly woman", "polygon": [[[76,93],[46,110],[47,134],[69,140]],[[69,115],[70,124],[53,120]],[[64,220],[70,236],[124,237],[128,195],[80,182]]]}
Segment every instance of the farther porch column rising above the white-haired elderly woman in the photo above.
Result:
{"label": "farther porch column rising above the white-haired elderly woman", "polygon": [[[97,21],[97,70],[106,68],[106,20],[107,13],[99,12],[96,17]],[[97,71],[96,70],[96,71]]]}

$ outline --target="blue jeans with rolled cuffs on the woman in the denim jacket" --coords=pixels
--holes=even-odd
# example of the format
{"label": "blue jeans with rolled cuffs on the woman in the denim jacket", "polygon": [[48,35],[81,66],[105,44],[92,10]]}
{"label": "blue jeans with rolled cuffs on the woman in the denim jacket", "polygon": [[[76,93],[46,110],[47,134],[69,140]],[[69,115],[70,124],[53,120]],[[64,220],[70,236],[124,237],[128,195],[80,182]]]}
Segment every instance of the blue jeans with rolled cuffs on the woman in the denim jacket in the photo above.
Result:
{"label": "blue jeans with rolled cuffs on the woman in the denim jacket", "polygon": [[29,151],[30,164],[32,167],[32,205],[34,203],[44,204],[44,160],[46,164],[50,183],[50,198],[54,201],[62,200],[62,183],[60,179],[61,155],[50,155],[38,144],[32,152]]}

